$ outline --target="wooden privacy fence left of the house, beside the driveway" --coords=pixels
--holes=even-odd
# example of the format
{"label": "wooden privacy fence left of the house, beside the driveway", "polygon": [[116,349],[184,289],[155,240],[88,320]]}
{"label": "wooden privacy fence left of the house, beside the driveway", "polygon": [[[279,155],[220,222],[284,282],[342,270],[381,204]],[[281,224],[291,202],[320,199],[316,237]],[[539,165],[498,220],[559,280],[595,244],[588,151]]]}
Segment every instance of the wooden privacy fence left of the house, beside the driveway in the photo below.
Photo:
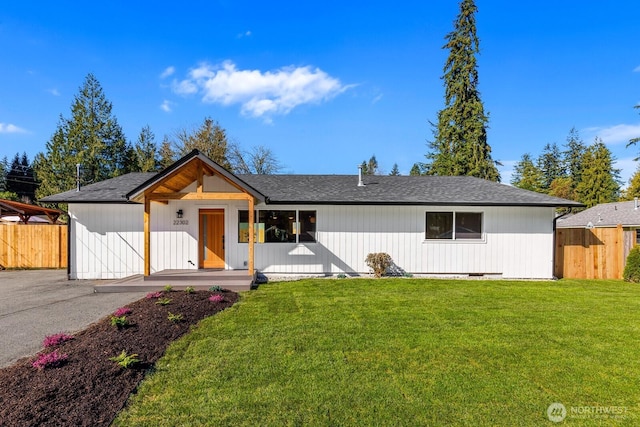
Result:
{"label": "wooden privacy fence left of the house, beside the driveway", "polygon": [[0,225],[0,266],[66,268],[67,226]]}

